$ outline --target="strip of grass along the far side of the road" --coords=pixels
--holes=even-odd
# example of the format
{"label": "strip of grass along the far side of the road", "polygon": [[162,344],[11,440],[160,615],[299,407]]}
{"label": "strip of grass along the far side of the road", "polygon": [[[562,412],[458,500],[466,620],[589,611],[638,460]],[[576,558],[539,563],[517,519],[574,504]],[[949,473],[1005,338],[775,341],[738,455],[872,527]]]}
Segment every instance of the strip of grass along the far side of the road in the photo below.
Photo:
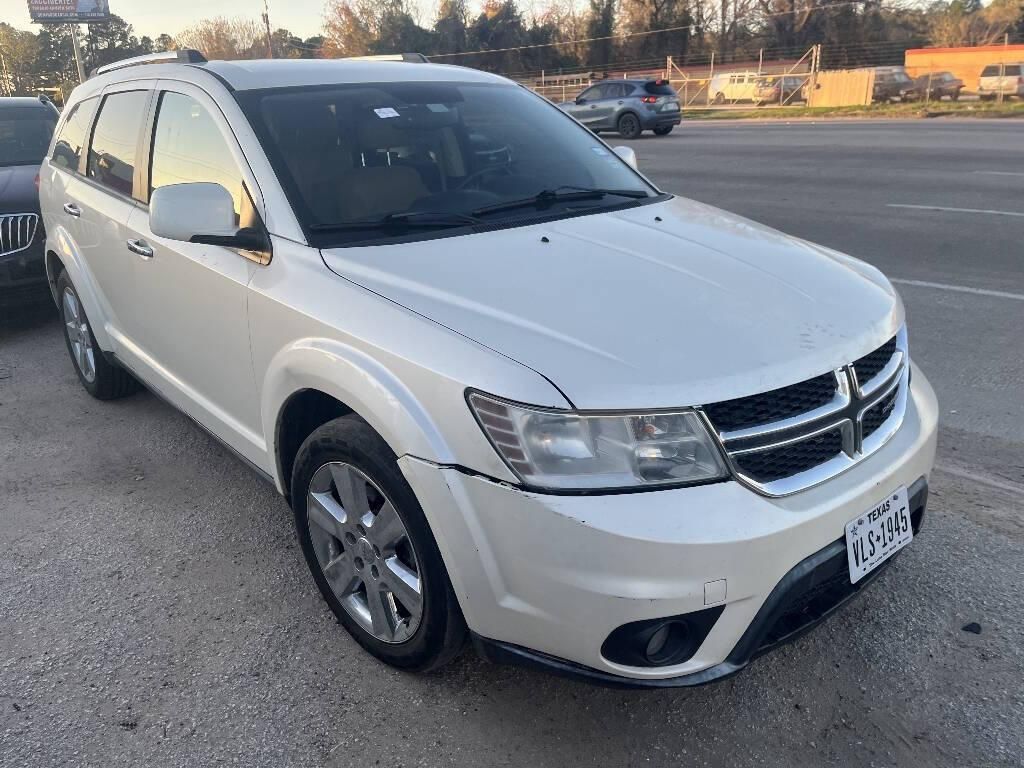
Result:
{"label": "strip of grass along the far side of the road", "polygon": [[762,106],[750,110],[687,109],[687,120],[793,120],[800,118],[1024,118],[1024,101],[932,101],[866,106]]}

